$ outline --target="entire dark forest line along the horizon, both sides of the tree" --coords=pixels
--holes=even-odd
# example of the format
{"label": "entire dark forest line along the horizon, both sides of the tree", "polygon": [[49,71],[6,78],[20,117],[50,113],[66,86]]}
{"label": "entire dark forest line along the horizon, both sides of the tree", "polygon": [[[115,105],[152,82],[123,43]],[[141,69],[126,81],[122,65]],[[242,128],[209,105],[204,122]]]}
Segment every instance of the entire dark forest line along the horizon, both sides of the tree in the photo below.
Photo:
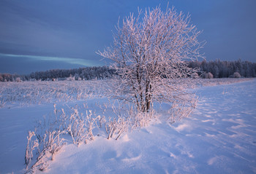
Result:
{"label": "entire dark forest line along the horizon, both sides of the tree", "polygon": [[[189,62],[190,68],[199,68],[198,75],[211,73],[214,78],[234,77],[239,74],[242,77],[256,77],[256,63],[249,61],[193,61]],[[0,82],[21,82],[34,80],[91,80],[110,79],[116,74],[114,69],[108,66],[86,67],[75,69],[53,69],[49,71],[37,71],[29,75],[0,74]],[[237,76],[236,76],[237,77]]]}

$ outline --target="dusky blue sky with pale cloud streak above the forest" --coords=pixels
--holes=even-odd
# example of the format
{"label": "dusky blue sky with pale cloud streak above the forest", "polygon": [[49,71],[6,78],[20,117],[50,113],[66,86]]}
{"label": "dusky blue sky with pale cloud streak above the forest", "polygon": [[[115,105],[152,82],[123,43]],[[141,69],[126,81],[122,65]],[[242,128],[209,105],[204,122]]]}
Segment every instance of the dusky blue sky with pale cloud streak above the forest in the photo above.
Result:
{"label": "dusky blue sky with pale cloud streak above the forest", "polygon": [[[103,66],[95,52],[112,42],[118,17],[138,7],[165,9],[156,0],[1,0],[0,73]],[[206,60],[256,61],[255,0],[173,0],[203,30]]]}

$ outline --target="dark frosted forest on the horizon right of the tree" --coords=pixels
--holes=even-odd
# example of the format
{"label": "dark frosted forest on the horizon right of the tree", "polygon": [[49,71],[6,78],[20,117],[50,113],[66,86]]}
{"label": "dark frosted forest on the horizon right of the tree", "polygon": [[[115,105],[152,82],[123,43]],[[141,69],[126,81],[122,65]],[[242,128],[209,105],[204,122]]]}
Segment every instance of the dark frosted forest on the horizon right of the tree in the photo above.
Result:
{"label": "dark frosted forest on the horizon right of the tree", "polygon": [[[190,68],[200,68],[200,74],[211,73],[214,78],[233,77],[238,73],[242,77],[256,77],[256,63],[249,61],[209,61],[189,62]],[[200,75],[198,74],[198,75]]]}

